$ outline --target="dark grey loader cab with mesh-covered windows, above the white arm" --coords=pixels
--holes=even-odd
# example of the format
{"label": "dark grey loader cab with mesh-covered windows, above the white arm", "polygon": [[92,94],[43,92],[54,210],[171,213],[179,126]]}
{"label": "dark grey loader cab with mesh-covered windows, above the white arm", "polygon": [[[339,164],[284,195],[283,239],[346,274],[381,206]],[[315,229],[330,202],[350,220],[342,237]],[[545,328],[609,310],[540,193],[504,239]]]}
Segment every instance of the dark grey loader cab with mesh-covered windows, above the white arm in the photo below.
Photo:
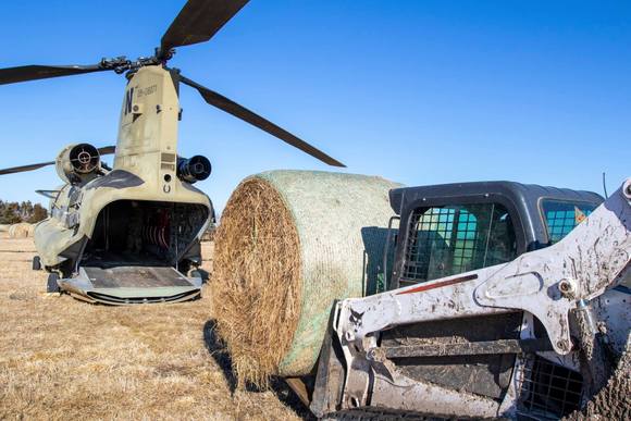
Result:
{"label": "dark grey loader cab with mesh-covered windows, above the white arm", "polygon": [[[399,219],[387,289],[506,263],[567,235],[603,202],[591,191],[478,182],[389,193]],[[396,218],[396,216],[395,216]],[[393,245],[388,245],[393,250]],[[388,261],[391,264],[388,264]]]}

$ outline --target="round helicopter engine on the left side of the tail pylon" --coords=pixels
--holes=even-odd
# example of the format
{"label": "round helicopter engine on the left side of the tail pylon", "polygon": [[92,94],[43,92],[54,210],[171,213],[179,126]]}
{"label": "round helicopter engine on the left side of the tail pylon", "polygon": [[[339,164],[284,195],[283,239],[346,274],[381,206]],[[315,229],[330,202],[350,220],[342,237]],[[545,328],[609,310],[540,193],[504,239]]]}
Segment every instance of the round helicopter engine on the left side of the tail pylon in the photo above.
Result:
{"label": "round helicopter engine on the left side of the tail pylon", "polygon": [[71,184],[89,181],[101,169],[101,157],[90,144],[70,145],[55,160],[57,173]]}

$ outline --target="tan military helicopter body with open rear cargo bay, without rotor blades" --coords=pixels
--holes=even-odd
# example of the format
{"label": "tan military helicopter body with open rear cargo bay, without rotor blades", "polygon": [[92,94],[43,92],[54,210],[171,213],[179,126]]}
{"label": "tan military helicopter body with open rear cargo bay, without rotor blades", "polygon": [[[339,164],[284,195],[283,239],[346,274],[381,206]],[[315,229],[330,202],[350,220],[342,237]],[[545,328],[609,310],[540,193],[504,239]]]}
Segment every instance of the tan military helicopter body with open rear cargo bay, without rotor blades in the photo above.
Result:
{"label": "tan military helicopter body with open rear cargo bay, without rotor blades", "polygon": [[[175,277],[182,277],[182,272],[201,263],[199,240],[213,218],[213,209],[207,195],[178,177],[181,109],[176,78],[171,72],[150,65],[129,75],[113,168],[99,166],[81,177],[66,176],[67,183],[51,200],[51,216],[36,227],[41,263],[59,273],[62,289],[90,296],[82,283],[77,287],[73,280],[90,281],[95,271],[103,270],[110,271],[106,276],[115,278],[112,273],[117,271],[126,280],[114,280],[112,290],[98,293],[115,296],[114,288],[138,289],[138,285],[127,282],[134,277],[129,268],[174,268]],[[62,151],[57,165],[60,175],[63,157]],[[154,277],[156,285],[164,283],[164,273]],[[144,283],[150,286],[151,281]],[[147,294],[158,293],[164,298],[180,289],[125,290],[123,295],[127,301],[146,301]]]}

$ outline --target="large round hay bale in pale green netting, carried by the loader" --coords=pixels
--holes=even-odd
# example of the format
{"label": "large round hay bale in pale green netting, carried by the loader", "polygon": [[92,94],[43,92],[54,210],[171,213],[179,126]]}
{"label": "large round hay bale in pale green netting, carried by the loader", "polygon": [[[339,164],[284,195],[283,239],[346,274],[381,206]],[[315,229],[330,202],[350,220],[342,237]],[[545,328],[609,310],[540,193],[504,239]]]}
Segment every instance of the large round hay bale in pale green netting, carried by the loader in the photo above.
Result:
{"label": "large round hay bale in pale green netting, carried by the loader", "polygon": [[239,184],[215,236],[212,301],[242,385],[309,373],[333,300],[375,290],[399,186],[310,171]]}

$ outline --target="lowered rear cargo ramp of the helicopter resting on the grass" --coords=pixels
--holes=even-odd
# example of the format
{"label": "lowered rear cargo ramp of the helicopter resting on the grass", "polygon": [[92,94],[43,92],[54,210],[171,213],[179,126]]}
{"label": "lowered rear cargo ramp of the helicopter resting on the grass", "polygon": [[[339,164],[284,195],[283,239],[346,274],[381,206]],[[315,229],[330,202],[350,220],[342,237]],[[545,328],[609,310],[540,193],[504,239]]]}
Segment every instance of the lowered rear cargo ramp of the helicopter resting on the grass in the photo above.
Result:
{"label": "lowered rear cargo ramp of the helicopter resting on the grass", "polygon": [[201,290],[201,280],[171,267],[83,267],[58,284],[75,298],[114,306],[186,301]]}

